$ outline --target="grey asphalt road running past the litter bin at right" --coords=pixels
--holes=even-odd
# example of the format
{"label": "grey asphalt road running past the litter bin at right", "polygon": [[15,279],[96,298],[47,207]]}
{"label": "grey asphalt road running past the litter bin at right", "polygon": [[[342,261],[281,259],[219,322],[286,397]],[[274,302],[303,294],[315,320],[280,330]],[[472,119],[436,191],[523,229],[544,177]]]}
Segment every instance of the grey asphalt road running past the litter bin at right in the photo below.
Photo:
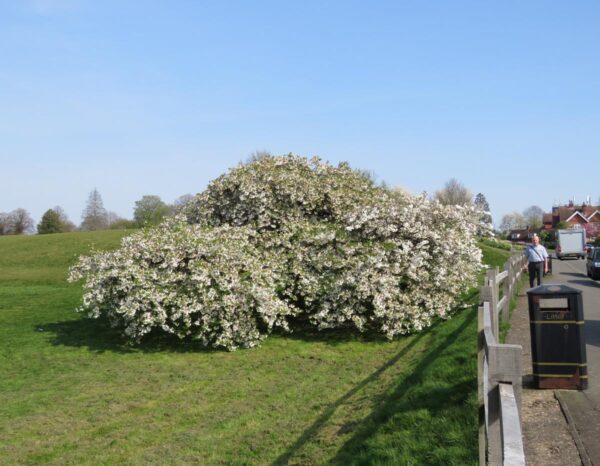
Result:
{"label": "grey asphalt road running past the litter bin at right", "polygon": [[563,283],[582,291],[588,363],[588,389],[560,390],[561,402],[584,464],[600,466],[600,281],[587,277],[585,261],[553,260],[546,284]]}

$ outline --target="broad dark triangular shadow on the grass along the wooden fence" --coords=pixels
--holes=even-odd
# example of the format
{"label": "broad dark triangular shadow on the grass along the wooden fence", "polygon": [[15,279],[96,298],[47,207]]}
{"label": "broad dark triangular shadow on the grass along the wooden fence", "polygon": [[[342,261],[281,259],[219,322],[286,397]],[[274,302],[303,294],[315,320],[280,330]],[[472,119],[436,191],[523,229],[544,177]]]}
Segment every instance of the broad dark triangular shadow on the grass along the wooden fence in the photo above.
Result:
{"label": "broad dark triangular shadow on the grass along the wooden fence", "polygon": [[[469,464],[470,460],[476,462],[477,446],[472,448],[472,451],[468,451],[474,442],[476,444],[475,409],[473,409],[473,426],[471,429],[465,425],[459,426],[458,429],[451,429],[453,427],[451,421],[446,421],[451,417],[449,410],[463,411],[463,413],[464,410],[468,411],[468,400],[477,392],[476,378],[464,377],[466,367],[468,367],[467,360],[469,358],[474,359],[475,350],[473,350],[473,354],[455,355],[455,360],[449,361],[451,364],[440,370],[440,372],[443,372],[443,376],[440,378],[448,378],[450,375],[449,378],[456,379],[457,383],[435,389],[420,387],[421,384],[431,383],[438,378],[436,368],[432,369],[431,366],[444,353],[447,353],[445,356],[449,360],[453,357],[452,345],[457,343],[459,337],[471,325],[476,316],[475,312],[471,312],[458,328],[449,333],[426,354],[419,365],[400,382],[391,394],[381,397],[377,408],[361,422],[361,428],[338,451],[331,464],[371,464],[372,462],[388,464],[393,461],[394,458],[386,457],[386,453],[389,455],[389,452],[385,448],[378,448],[378,451],[369,448],[370,441],[382,428],[392,432],[397,432],[400,429],[407,432],[407,435],[400,437],[401,441],[394,438],[387,441],[387,443],[398,449],[400,447],[404,448],[406,452],[402,455],[404,456],[403,461],[408,461],[408,458],[410,458],[411,464]],[[475,335],[473,335],[473,347],[475,346],[474,340]],[[449,349],[450,351],[448,351]],[[432,422],[437,424],[437,429],[433,429],[427,422],[422,422],[421,426],[402,425],[403,416],[405,417],[411,411],[420,410],[428,413],[430,419],[433,420]],[[457,442],[457,437],[460,438],[461,436],[462,442]],[[420,437],[420,439],[410,443],[413,437]],[[450,453],[456,443],[462,443],[463,451]],[[434,449],[436,453],[432,453]],[[443,452],[442,457],[439,456],[440,451]],[[443,455],[446,454],[448,456],[443,458]],[[470,458],[471,456],[472,458]],[[355,458],[357,461],[354,460]]]}

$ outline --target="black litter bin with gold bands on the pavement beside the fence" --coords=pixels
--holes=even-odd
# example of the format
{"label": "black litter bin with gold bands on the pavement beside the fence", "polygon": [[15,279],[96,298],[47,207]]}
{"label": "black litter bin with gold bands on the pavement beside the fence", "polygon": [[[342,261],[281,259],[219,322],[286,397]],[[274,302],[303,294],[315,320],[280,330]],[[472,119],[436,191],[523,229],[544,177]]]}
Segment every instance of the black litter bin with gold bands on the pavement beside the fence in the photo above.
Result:
{"label": "black litter bin with gold bands on the pavement beside the fence", "polygon": [[586,389],[581,290],[548,284],[527,295],[534,383],[538,388]]}

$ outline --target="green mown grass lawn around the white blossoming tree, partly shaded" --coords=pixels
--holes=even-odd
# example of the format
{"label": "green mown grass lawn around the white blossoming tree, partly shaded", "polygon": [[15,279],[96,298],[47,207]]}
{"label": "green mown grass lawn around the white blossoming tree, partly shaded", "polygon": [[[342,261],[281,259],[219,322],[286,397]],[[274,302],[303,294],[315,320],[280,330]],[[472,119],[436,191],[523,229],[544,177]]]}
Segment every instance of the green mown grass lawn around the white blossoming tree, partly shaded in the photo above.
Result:
{"label": "green mown grass lawn around the white blossoming tree, partly shaded", "polygon": [[0,237],[0,464],[476,464],[474,306],[391,342],[129,347],[65,281],[123,234]]}

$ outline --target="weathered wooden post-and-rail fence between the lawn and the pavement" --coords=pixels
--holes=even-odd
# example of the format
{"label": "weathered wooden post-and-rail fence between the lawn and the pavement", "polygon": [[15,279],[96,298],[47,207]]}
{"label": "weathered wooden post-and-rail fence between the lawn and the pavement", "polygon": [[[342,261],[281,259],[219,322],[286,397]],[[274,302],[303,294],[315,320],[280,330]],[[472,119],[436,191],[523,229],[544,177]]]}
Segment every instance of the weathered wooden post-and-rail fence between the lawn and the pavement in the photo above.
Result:
{"label": "weathered wooden post-and-rail fence between the lawn and the pavement", "polygon": [[478,315],[479,463],[525,465],[521,432],[521,345],[498,342],[526,260],[513,255],[500,272],[488,270]]}

